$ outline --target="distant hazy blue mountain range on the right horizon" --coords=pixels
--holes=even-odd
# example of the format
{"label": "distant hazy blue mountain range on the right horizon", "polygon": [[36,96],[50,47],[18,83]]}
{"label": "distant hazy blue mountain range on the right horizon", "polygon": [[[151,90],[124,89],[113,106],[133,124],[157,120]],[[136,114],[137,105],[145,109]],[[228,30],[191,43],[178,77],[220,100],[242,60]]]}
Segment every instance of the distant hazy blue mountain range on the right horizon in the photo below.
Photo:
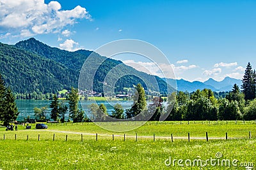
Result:
{"label": "distant hazy blue mountain range on the right horizon", "polygon": [[173,80],[171,78],[164,78],[164,81],[175,87],[175,81],[177,85],[177,90],[179,91],[188,91],[188,92],[193,92],[196,91],[197,89],[211,89],[212,91],[220,92],[220,91],[230,91],[232,90],[232,87],[234,84],[237,84],[239,87],[242,85],[242,81],[235,79],[235,78],[230,78],[230,77],[225,77],[222,81],[216,81],[212,78],[209,78],[209,80],[201,82],[201,81],[187,81],[187,80]]}

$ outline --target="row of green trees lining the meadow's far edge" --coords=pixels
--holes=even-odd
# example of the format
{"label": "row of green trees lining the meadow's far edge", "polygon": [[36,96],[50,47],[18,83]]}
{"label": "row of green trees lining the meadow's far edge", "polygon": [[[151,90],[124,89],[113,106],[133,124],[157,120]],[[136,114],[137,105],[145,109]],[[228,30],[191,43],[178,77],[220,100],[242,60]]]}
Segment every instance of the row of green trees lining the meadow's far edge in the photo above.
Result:
{"label": "row of green trees lining the meadow's far edge", "polygon": [[[166,120],[256,120],[256,99],[255,96],[249,98],[246,94],[252,94],[253,88],[255,88],[255,78],[253,76],[255,71],[250,71],[252,67],[250,63],[246,67],[244,73],[243,85],[240,90],[235,84],[230,92],[221,93],[216,97],[216,92],[212,92],[210,89],[196,90],[195,92],[173,92],[168,96],[167,103],[164,103],[164,99],[161,97],[154,97],[152,103],[146,103],[145,90],[139,83],[135,89],[136,93],[132,97],[132,107],[124,110],[122,105],[116,104],[111,115],[108,115],[106,106],[104,104],[91,104],[89,106],[89,113],[93,120],[106,121],[108,117],[127,119],[136,117],[141,114],[140,120],[159,120],[161,115],[166,115]],[[249,70],[249,71],[248,71]],[[252,75],[248,76],[250,73]],[[251,77],[251,78],[248,78]],[[254,82],[254,84],[253,84]],[[248,85],[252,85],[247,92]],[[246,88],[245,88],[246,87]],[[255,89],[254,89],[255,90]],[[222,95],[225,94],[225,97]],[[79,100],[77,89],[71,90],[68,94],[69,100],[69,118],[72,118],[74,122],[81,122],[86,118],[86,121],[90,121],[88,117],[84,115],[83,110],[77,108],[77,102]],[[68,108],[63,103],[58,102],[58,98],[54,95],[50,108],[51,118],[58,120],[61,118],[61,122],[64,122],[64,115]],[[138,120],[138,119],[137,119]],[[148,120],[148,119],[147,119]]]}

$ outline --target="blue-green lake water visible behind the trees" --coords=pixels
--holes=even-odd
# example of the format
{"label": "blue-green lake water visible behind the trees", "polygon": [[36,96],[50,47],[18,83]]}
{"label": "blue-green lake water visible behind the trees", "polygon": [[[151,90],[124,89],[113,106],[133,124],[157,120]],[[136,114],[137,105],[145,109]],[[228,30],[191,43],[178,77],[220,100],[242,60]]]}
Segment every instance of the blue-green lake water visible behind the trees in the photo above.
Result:
{"label": "blue-green lake water visible behind the trees", "polygon": [[[68,106],[68,101],[64,101]],[[88,113],[88,106],[92,103],[95,103],[95,101],[81,101],[79,106],[81,107],[81,104],[83,105],[85,113]],[[123,106],[124,109],[130,108],[132,105],[132,101],[97,101],[97,104],[103,103],[105,104],[109,115],[111,115],[111,111],[113,111],[113,106],[116,103],[119,103]],[[17,108],[20,112],[17,120],[24,120],[24,118],[27,118],[28,116],[30,118],[34,118],[34,108],[42,108],[44,106],[47,106],[47,113],[46,117],[50,118],[51,108],[49,108],[51,101],[43,101],[43,100],[16,100]],[[68,112],[66,114],[66,119],[68,118]]]}

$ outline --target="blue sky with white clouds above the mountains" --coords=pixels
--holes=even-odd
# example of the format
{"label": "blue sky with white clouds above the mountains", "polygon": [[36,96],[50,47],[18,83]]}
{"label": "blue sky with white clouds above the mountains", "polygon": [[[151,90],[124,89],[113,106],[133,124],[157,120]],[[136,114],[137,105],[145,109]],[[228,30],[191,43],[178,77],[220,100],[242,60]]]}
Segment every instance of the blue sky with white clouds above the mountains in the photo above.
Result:
{"label": "blue sky with white clouds above the mountains", "polygon": [[[73,51],[140,39],[166,55],[166,68],[172,67],[178,79],[242,78],[248,62],[256,68],[255,9],[256,1],[242,0],[0,0],[0,41],[14,44],[35,37]],[[157,74],[148,60],[119,59]]]}

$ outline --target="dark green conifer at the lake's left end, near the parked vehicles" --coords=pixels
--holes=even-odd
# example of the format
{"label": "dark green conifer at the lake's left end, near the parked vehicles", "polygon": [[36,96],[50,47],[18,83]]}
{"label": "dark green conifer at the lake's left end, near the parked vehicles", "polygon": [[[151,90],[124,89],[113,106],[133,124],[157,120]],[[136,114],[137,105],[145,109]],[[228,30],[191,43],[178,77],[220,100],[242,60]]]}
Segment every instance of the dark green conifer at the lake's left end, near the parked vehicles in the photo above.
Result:
{"label": "dark green conifer at the lake's left end, near the parked vehicles", "polygon": [[7,89],[4,103],[5,110],[2,120],[4,121],[4,125],[8,125],[9,122],[13,122],[14,120],[16,120],[19,115],[19,111],[15,103],[15,97],[13,96],[12,90],[10,88]]}

